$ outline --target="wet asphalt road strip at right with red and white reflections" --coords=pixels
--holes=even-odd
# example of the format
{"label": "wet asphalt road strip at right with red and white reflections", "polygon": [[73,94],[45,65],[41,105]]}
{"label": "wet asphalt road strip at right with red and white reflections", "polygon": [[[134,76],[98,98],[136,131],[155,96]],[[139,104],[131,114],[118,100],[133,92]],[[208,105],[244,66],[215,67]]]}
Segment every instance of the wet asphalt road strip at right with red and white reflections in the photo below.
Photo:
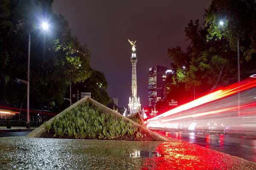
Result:
{"label": "wet asphalt road strip at right with red and white reflections", "polygon": [[223,134],[167,132],[166,136],[256,162],[256,140]]}

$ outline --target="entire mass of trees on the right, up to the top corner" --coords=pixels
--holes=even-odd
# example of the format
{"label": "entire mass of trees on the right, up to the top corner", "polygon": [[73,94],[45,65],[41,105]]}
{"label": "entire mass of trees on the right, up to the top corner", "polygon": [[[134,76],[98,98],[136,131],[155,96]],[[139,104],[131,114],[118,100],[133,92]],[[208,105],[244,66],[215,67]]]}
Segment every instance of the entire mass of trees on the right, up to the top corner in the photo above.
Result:
{"label": "entire mass of trees on the right, up to the top corner", "polygon": [[255,72],[255,62],[247,61],[256,58],[256,1],[212,0],[204,18],[203,26],[196,20],[185,28],[186,52],[180,46],[168,50],[174,71],[166,81],[169,101],[193,99],[194,89],[201,96],[235,82],[238,41],[241,77]]}

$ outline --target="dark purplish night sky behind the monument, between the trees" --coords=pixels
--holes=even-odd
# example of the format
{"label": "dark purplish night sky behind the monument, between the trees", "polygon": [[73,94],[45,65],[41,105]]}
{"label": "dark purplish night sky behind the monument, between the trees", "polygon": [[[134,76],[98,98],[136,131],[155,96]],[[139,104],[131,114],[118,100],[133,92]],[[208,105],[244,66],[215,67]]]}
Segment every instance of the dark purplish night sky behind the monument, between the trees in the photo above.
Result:
{"label": "dark purplish night sky behind the monument, between the trees", "polygon": [[[202,24],[204,8],[211,0],[55,0],[55,14],[69,20],[72,34],[91,53],[91,67],[104,72],[108,94],[119,98],[119,108],[128,108],[131,96],[131,45],[137,40],[137,89],[142,108],[148,106],[150,66],[169,67],[167,48],[185,41],[190,20]],[[94,59],[96,57],[96,59]]]}

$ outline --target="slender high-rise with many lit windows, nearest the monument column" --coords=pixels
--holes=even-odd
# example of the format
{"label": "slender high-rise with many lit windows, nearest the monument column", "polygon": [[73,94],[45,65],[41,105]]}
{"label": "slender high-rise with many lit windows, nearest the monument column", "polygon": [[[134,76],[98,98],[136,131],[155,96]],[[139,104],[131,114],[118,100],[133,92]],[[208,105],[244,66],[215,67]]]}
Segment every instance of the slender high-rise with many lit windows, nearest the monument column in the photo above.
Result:
{"label": "slender high-rise with many lit windows, nearest the monument column", "polygon": [[148,73],[148,106],[153,107],[157,103],[157,68],[149,68]]}

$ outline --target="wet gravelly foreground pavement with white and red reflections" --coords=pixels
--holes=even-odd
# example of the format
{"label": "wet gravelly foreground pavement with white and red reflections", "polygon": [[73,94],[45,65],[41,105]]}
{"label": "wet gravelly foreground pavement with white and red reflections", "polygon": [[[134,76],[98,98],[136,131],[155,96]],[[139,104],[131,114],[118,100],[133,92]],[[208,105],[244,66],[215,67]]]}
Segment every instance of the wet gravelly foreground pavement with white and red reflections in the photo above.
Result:
{"label": "wet gravelly foreground pavement with white and red reflections", "polygon": [[256,163],[187,142],[0,138],[0,169],[256,169]]}

